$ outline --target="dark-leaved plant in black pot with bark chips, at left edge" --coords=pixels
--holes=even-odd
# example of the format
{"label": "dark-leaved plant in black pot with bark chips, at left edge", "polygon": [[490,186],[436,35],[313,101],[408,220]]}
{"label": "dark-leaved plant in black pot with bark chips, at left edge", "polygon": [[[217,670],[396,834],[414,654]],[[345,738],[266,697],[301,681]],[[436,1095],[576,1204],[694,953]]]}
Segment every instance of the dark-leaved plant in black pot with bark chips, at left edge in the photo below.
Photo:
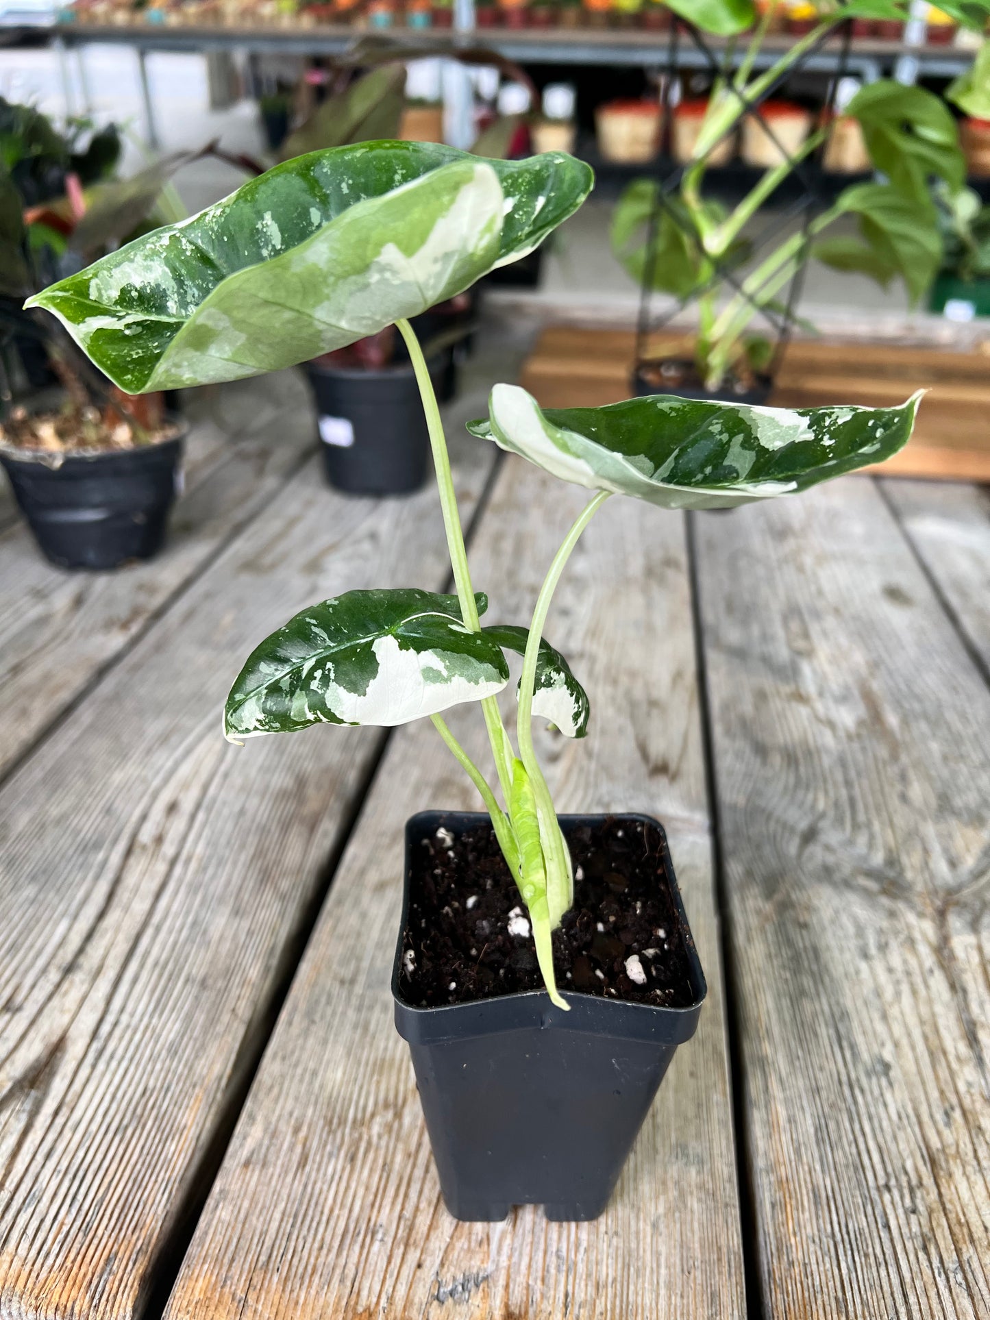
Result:
{"label": "dark-leaved plant in black pot with bark chips, at left edge", "polygon": [[[164,540],[183,428],[161,395],[131,399],[94,372],[25,294],[149,224],[168,180],[214,152],[185,152],[111,180],[116,128],[0,103],[0,463],[41,550],[63,568],[107,569]],[[220,154],[219,152],[216,152]],[[161,216],[156,223],[161,222]]]}

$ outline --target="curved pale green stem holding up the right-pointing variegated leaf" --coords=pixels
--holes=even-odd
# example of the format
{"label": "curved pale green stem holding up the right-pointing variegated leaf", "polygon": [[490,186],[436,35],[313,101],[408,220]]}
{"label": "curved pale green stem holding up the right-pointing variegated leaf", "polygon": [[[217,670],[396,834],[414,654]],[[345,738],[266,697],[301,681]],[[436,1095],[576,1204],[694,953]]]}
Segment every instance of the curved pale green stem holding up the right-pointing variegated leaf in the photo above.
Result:
{"label": "curved pale green stem holding up the right-pointing variegated leaf", "polygon": [[550,791],[544,779],[540,763],[536,759],[533,747],[533,688],[536,685],[536,663],[540,656],[540,642],[543,639],[546,614],[550,609],[553,593],[560,582],[564,566],[570,558],[572,550],[578,543],[581,533],[594,517],[595,512],[609,499],[610,491],[599,491],[574,520],[570,531],[564,537],[561,548],[553,557],[553,562],[540,587],[533,618],[529,623],[529,636],[523,657],[523,676],[519,680],[519,715],[516,721],[519,739],[519,758],[525,766],[536,796],[536,807],[540,816],[540,837],[544,857],[546,861],[546,900],[550,909],[550,928],[560,924],[560,919],[568,911],[574,899],[574,880],[570,871],[570,857],[568,845],[564,842],[557,813],[553,809]]}

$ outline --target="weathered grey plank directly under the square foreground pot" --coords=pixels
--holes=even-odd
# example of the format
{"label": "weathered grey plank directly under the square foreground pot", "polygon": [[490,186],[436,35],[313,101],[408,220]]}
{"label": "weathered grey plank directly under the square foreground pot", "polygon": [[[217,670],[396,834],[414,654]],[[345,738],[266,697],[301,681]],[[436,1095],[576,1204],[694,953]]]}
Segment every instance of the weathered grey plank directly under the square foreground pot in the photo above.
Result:
{"label": "weathered grey plank directly under the square foreground pot", "polygon": [[[473,552],[492,619],[525,619],[585,492],[507,461]],[[168,1309],[168,1320],[742,1316],[722,978],[711,894],[684,521],[606,506],[568,566],[549,636],[591,696],[585,743],[545,734],[560,809],[659,814],[709,978],[594,1224],[458,1224],[444,1209],[392,1024],[404,818],[475,807],[429,726],[379,771]],[[512,701],[510,694],[508,708]],[[451,722],[487,764],[477,710]],[[301,781],[308,771],[300,767]]]}

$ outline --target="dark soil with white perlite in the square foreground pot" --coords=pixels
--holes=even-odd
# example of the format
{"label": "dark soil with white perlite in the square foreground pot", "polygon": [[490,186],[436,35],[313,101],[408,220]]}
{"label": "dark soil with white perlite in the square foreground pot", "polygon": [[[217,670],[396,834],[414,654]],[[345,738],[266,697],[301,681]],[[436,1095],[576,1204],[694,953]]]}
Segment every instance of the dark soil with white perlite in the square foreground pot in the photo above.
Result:
{"label": "dark soil with white perlite in the square foreground pot", "polygon": [[[639,820],[564,822],[574,907],[553,932],[561,990],[664,1007],[694,1002],[660,836]],[[401,989],[438,1007],[543,989],[527,911],[487,820],[413,849]]]}

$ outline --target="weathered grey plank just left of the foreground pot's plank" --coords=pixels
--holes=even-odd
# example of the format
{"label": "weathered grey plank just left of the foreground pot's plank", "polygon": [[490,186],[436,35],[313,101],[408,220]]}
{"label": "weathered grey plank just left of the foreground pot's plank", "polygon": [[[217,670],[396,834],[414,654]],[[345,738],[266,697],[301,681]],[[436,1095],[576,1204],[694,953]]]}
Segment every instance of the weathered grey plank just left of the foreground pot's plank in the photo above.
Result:
{"label": "weathered grey plank just left of the foreground pot's plank", "polygon": [[[494,451],[459,453],[470,511]],[[244,656],[327,594],[446,576],[433,490],[346,499],[314,459],[0,792],[0,1315],[143,1313],[380,746],[227,746]]]}

